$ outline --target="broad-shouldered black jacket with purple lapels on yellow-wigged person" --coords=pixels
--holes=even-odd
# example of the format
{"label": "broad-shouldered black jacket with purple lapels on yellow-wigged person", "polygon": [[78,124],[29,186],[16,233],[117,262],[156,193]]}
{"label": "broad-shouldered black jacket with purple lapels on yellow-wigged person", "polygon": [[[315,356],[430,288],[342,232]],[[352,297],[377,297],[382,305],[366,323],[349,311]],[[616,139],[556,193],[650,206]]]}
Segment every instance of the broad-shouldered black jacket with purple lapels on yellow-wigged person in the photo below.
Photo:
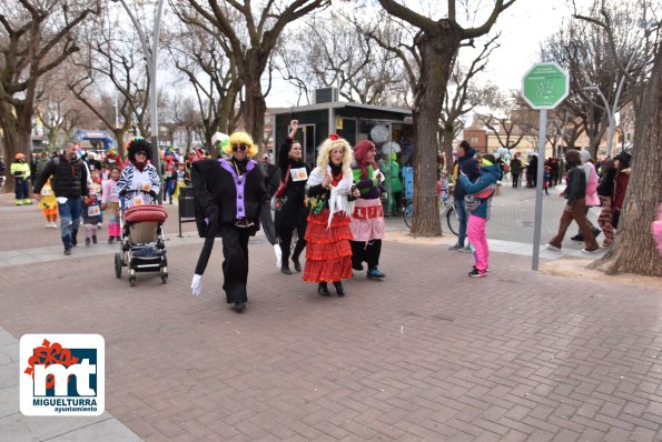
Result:
{"label": "broad-shouldered black jacket with purple lapels on yellow-wigged person", "polygon": [[[207,237],[211,222],[235,224],[238,219],[246,219],[255,223],[257,231],[261,220],[267,239],[275,243],[271,199],[265,188],[261,169],[255,161],[249,160],[247,172],[239,178],[230,161],[199,160],[191,165],[191,182],[200,237]],[[241,185],[243,193],[238,193]]]}

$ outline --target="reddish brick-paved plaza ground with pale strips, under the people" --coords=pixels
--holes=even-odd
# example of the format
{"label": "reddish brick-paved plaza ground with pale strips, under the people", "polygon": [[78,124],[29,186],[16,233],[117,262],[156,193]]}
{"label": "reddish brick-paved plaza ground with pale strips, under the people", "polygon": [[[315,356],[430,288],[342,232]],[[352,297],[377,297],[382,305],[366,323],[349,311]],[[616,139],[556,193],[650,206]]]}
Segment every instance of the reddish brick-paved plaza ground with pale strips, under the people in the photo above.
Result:
{"label": "reddish brick-paved plaza ground with pale strips, under the people", "polygon": [[[281,274],[258,234],[243,314],[225,302],[219,243],[202,295],[190,294],[201,240],[192,223],[177,238],[177,205],[168,283],[147,273],[131,288],[126,270],[115,278],[105,229],[65,257],[36,207],[0,195],[0,439],[662,440],[662,290],[532,271],[534,192],[502,190],[488,278],[467,278],[472,257],[447,250],[454,238],[413,239],[392,219],[386,280],[358,272],[345,298],[322,298]],[[545,197],[543,242],[562,205]],[[541,263],[586,264],[582,244],[563,245]],[[20,414],[26,333],[105,338],[103,415]]]}

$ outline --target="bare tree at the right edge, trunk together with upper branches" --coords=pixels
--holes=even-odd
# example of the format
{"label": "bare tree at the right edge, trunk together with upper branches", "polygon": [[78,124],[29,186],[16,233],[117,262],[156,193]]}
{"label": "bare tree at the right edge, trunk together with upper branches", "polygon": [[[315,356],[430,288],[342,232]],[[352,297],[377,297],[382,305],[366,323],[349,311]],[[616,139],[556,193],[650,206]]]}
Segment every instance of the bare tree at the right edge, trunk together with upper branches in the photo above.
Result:
{"label": "bare tree at the right edge, trunk together with upper branches", "polygon": [[[654,8],[655,4],[658,9]],[[606,254],[594,261],[590,268],[607,274],[662,277],[662,257],[650,234],[651,222],[662,201],[662,30],[659,20],[652,23],[648,20],[648,13],[656,13],[659,17],[661,11],[659,3],[639,1],[636,6],[635,30],[639,31],[643,68],[632,72],[624,59],[616,63],[619,72],[633,84],[635,147],[632,150],[632,172],[614,242]],[[615,17],[605,2],[601,2],[597,17],[577,17],[603,33],[612,57],[617,59],[622,41],[615,32]]]}

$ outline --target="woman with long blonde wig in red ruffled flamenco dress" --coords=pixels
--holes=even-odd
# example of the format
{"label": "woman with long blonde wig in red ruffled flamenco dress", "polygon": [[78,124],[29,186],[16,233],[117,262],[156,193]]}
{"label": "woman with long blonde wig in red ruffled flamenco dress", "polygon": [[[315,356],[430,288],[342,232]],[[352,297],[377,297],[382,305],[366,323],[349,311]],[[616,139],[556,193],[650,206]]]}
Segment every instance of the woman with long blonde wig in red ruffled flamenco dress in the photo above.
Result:
{"label": "woman with long blonde wig in red ruffled flamenco dress", "polygon": [[343,279],[352,279],[352,231],[348,197],[352,192],[352,147],[332,133],[319,147],[317,167],[306,185],[308,227],[304,281],[317,282],[323,297],[333,282],[338,297],[345,295]]}

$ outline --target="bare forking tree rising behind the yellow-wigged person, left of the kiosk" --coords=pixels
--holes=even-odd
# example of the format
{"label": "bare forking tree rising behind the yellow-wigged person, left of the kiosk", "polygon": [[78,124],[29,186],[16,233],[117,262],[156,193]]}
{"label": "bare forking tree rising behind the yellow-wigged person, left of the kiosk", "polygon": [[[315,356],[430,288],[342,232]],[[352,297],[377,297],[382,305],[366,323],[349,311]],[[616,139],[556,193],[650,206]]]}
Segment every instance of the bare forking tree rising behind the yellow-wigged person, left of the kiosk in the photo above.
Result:
{"label": "bare forking tree rising behind the yellow-wigged person, left of the kiosk", "polygon": [[[197,21],[200,27],[210,24],[227,39],[231,51],[227,56],[235,57],[237,74],[244,87],[243,118],[246,131],[254,140],[261,140],[267,110],[261,80],[263,74],[273,69],[269,63],[278,39],[288,23],[317,9],[327,8],[330,0],[267,0],[260,4],[253,4],[248,0],[189,0],[189,3],[199,14],[199,19],[185,12],[187,19],[191,22]],[[235,13],[238,13],[241,20],[230,21],[229,17],[234,17]],[[208,23],[204,23],[202,20]]]}

